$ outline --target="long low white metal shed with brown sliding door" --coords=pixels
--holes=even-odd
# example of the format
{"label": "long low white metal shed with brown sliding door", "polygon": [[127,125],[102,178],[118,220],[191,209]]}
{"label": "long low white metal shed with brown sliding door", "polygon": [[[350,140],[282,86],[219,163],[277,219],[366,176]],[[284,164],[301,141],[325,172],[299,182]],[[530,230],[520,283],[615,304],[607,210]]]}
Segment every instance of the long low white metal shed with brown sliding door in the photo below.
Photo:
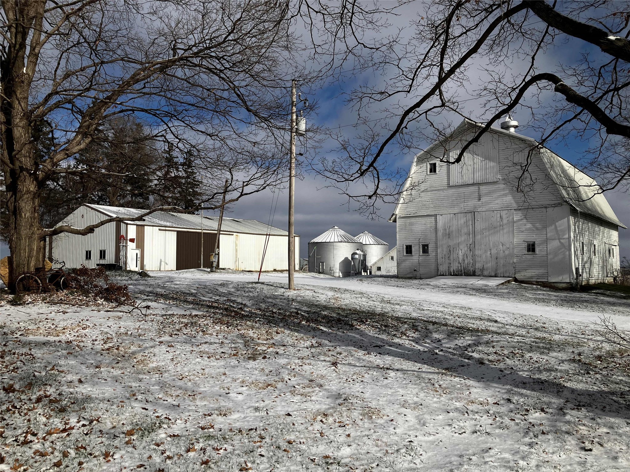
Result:
{"label": "long low white metal shed with brown sliding door", "polygon": [[[105,218],[133,218],[146,210],[104,205],[81,205],[60,224],[83,228]],[[47,254],[55,267],[118,266],[126,259],[129,270],[173,271],[210,267],[214,250],[216,216],[156,211],[140,221],[114,222],[82,236],[61,233],[47,239]],[[124,237],[122,240],[121,236]],[[219,267],[237,271],[258,271],[265,248],[263,271],[287,270],[288,233],[256,220],[223,218],[219,237]],[[295,235],[295,267],[299,267],[299,236]]]}

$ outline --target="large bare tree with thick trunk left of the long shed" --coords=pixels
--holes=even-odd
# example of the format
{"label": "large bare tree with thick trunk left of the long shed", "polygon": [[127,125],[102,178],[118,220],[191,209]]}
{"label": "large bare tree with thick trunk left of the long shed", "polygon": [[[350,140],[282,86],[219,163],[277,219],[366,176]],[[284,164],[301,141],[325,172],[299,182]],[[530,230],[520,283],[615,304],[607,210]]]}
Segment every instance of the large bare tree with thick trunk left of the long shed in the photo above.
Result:
{"label": "large bare tree with thick trunk left of the long shed", "polygon": [[[43,228],[42,189],[77,170],[106,176],[72,163],[115,117],[134,115],[180,152],[195,149],[206,208],[226,174],[228,201],[277,183],[287,84],[312,80],[295,59],[294,13],[287,1],[3,0],[0,161],[15,273],[42,264],[45,237],[94,230]],[[46,155],[42,123],[54,130]]]}

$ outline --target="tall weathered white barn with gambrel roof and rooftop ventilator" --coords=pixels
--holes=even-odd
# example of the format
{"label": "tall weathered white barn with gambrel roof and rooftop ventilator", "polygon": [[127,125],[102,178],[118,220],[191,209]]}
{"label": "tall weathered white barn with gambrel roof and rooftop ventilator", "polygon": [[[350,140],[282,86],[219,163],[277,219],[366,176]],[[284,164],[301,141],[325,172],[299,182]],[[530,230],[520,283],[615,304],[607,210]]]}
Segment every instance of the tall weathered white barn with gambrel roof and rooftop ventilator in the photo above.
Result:
{"label": "tall weathered white barn with gambrel roof and rooftop ventilator", "polygon": [[[511,126],[510,126],[511,125]],[[611,281],[619,228],[591,177],[501,123],[454,160],[481,125],[464,120],[416,155],[396,210],[399,277]]]}

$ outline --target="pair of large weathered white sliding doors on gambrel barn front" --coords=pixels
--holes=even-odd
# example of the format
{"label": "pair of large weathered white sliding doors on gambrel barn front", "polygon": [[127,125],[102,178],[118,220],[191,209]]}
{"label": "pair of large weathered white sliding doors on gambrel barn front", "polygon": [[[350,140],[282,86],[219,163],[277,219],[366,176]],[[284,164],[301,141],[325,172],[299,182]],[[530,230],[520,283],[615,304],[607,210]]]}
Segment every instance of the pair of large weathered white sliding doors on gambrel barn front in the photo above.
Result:
{"label": "pair of large weathered white sliding doors on gambrel barn front", "polygon": [[438,274],[514,276],[514,211],[437,215]]}

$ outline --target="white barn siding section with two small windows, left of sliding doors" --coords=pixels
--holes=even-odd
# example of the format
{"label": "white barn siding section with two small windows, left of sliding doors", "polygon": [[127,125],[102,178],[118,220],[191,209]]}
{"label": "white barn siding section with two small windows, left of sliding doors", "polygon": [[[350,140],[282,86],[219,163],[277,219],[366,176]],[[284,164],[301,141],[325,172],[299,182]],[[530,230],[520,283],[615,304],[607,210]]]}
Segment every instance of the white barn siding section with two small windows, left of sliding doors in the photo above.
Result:
{"label": "white barn siding section with two small windows, left of sliding doors", "polygon": [[[402,278],[430,278],[437,276],[436,215],[398,218],[396,233],[398,246],[396,261],[398,276]],[[413,254],[404,254],[404,245],[411,244]],[[428,256],[420,255],[420,244],[429,245]],[[416,269],[414,271],[414,269]]]}

